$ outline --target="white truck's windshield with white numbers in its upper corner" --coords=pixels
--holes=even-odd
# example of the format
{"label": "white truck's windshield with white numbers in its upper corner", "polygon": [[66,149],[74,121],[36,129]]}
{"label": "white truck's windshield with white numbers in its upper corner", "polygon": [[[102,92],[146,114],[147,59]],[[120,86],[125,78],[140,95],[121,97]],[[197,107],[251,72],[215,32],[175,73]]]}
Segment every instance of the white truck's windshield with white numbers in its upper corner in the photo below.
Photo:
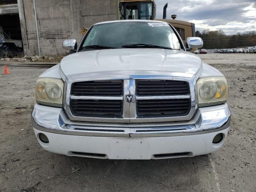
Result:
{"label": "white truck's windshield with white numbers in its upper corner", "polygon": [[[148,48],[145,45],[154,45],[181,49],[178,37],[169,24],[157,22],[114,22],[94,25],[80,49],[95,45],[112,48]],[[133,46],[126,47],[127,45]]]}

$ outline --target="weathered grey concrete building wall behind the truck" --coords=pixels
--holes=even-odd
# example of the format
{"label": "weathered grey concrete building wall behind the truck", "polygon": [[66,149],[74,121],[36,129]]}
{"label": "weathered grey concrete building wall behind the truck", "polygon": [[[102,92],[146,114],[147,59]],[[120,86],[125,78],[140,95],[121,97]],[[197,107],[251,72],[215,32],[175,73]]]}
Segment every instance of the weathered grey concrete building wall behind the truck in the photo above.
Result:
{"label": "weathered grey concrete building wall behind the truck", "polygon": [[[64,39],[82,38],[82,27],[116,20],[118,0],[35,0],[41,55],[63,55]],[[33,0],[18,0],[24,54],[38,55]]]}

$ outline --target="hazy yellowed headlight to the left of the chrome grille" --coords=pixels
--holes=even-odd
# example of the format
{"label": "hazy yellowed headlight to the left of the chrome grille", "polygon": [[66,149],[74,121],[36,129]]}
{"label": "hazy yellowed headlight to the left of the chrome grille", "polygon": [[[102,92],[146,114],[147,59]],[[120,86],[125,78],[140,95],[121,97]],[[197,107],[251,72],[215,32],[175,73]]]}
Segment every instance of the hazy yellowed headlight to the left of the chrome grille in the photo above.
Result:
{"label": "hazy yellowed headlight to the left of the chrome grille", "polygon": [[62,106],[64,83],[57,78],[36,80],[36,102],[50,106]]}

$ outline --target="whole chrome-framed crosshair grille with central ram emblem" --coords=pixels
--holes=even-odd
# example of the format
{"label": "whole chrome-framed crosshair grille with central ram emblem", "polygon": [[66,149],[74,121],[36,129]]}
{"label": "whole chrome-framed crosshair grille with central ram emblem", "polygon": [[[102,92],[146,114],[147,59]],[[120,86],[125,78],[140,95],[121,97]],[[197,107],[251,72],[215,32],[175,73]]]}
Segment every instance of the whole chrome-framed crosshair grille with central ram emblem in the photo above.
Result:
{"label": "whole chrome-framed crosshair grille with central ram emblem", "polygon": [[70,120],[161,122],[189,120],[196,111],[192,77],[116,76],[114,80],[76,82],[74,77],[66,81],[64,106]]}

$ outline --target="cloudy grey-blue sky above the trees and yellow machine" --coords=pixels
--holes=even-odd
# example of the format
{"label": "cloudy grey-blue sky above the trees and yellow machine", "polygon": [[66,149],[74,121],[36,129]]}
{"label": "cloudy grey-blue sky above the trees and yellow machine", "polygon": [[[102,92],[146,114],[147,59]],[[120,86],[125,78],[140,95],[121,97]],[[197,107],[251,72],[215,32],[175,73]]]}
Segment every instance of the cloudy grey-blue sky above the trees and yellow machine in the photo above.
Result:
{"label": "cloudy grey-blue sky above the trees and yellow machine", "polygon": [[167,18],[193,22],[196,30],[220,30],[225,34],[256,31],[256,0],[155,0],[156,18],[162,18],[168,2]]}

